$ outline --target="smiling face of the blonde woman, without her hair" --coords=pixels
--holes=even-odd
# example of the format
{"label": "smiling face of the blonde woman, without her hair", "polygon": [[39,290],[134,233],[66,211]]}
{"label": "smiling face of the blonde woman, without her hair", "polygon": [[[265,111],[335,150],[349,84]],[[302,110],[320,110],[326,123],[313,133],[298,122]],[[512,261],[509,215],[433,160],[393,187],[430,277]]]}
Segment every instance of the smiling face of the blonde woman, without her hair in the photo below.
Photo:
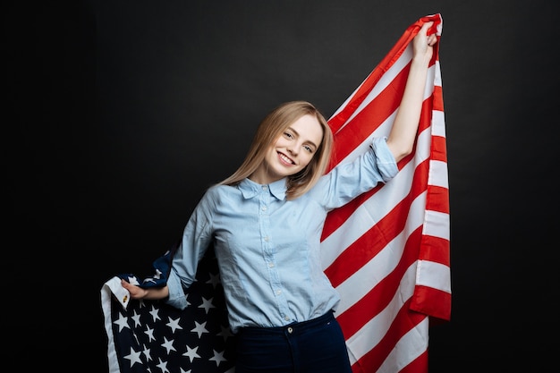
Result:
{"label": "smiling face of the blonde woman, without her hair", "polygon": [[299,173],[309,165],[321,140],[323,128],[315,115],[301,116],[268,148],[263,164],[251,175],[251,180],[265,184]]}

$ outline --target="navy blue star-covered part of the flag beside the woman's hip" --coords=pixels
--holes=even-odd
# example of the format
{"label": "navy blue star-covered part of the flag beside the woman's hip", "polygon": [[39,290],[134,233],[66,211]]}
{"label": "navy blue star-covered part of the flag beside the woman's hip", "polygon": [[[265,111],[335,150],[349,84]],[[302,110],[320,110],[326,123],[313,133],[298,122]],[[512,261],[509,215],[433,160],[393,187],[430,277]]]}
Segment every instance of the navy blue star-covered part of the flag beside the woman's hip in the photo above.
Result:
{"label": "navy blue star-covered part of the flag beside the woman's hip", "polygon": [[151,276],[121,274],[104,284],[101,303],[108,336],[109,373],[233,373],[235,337],[214,250],[201,259],[180,310],[163,301],[131,300],[121,279],[142,287],[167,281],[174,250],[153,263]]}

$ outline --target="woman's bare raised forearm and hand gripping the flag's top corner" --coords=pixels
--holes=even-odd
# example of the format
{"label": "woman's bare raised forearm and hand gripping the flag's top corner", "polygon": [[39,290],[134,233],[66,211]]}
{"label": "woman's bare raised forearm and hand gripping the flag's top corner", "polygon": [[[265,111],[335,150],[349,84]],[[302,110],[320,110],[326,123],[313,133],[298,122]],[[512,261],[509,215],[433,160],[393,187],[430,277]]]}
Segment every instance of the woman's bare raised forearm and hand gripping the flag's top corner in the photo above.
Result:
{"label": "woman's bare raised forearm and hand gripping the flag's top corner", "polygon": [[434,53],[433,46],[437,42],[436,34],[429,36],[427,34],[433,23],[433,21],[424,23],[412,40],[411,70],[395,122],[387,137],[387,146],[391,149],[397,162],[411,154],[418,131],[428,64]]}

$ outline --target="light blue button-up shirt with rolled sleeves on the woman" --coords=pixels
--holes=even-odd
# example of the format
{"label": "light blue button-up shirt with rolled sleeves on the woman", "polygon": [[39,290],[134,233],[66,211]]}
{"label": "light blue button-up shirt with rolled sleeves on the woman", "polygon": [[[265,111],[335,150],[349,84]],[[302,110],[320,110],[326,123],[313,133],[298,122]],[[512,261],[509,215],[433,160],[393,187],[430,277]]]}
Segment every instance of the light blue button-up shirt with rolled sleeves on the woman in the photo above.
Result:
{"label": "light blue button-up shirt with rolled sleeves on the woman", "polygon": [[323,272],[320,237],[327,213],[398,172],[386,139],[338,165],[303,196],[285,199],[285,179],[215,185],[192,212],[167,285],[167,303],[187,306],[183,287],[214,245],[233,333],[242,326],[284,326],[336,309],[340,297]]}

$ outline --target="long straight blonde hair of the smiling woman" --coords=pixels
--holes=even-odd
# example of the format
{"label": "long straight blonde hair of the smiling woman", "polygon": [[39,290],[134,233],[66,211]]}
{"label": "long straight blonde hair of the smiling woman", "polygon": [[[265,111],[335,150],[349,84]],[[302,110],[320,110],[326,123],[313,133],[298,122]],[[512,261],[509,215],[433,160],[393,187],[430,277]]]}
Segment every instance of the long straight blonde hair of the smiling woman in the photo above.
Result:
{"label": "long straight blonde hair of the smiling woman", "polygon": [[318,109],[307,101],[286,102],[276,106],[272,112],[267,114],[257,128],[242,165],[231,176],[222,182],[218,182],[218,184],[236,185],[249,177],[264,161],[267,149],[276,141],[278,136],[293,122],[306,114],[315,115],[323,128],[323,139],[309,165],[306,165],[299,173],[288,176],[286,199],[296,199],[309,191],[327,171],[333,148],[333,132],[323,114],[319,113]]}

